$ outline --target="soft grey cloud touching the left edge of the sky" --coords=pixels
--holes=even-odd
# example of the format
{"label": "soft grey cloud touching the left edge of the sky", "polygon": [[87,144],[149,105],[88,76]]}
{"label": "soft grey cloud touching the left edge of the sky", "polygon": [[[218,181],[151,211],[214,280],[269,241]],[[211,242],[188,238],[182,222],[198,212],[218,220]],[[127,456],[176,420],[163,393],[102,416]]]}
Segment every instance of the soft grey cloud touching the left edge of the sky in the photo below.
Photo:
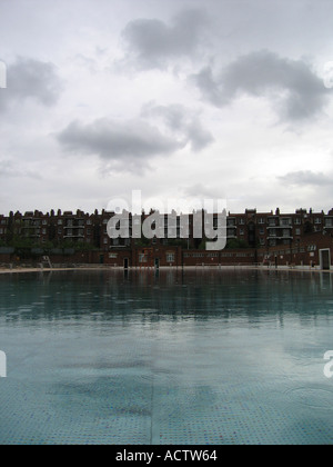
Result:
{"label": "soft grey cloud touching the left edge of the sky", "polygon": [[61,89],[52,63],[20,57],[7,68],[7,89],[1,89],[0,109],[21,105],[26,99],[50,107],[58,101]]}

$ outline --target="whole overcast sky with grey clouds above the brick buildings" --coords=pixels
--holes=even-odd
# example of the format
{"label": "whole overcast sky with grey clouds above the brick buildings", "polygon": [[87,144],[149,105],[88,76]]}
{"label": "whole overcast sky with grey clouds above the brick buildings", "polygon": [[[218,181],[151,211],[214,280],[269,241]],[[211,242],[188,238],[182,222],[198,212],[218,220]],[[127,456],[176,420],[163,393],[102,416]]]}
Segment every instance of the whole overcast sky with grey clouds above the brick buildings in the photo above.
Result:
{"label": "whole overcast sky with grey clouds above the brick buildings", "polygon": [[326,212],[332,18],[331,0],[0,0],[0,213],[133,190]]}

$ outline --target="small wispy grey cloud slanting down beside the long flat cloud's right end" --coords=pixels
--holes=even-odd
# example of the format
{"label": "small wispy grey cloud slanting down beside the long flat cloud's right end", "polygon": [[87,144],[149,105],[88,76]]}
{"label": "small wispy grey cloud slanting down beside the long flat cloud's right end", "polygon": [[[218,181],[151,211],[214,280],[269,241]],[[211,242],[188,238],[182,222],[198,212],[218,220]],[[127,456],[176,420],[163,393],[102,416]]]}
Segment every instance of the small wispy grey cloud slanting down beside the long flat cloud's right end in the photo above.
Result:
{"label": "small wispy grey cloud slanting down beside the long flat cloud's right end", "polygon": [[194,152],[201,151],[214,141],[213,136],[201,123],[192,110],[181,105],[148,105],[142,110],[143,117],[161,118],[165,126],[182,140],[191,145]]}

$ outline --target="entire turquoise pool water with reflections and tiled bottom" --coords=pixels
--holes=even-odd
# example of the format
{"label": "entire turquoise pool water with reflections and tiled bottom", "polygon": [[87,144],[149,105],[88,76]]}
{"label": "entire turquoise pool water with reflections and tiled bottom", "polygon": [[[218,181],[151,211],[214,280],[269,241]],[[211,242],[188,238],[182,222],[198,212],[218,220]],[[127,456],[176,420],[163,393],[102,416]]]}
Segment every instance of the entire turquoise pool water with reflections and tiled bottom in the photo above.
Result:
{"label": "entire turquoise pool water with reflections and tiled bottom", "polygon": [[331,444],[332,276],[0,276],[0,444]]}

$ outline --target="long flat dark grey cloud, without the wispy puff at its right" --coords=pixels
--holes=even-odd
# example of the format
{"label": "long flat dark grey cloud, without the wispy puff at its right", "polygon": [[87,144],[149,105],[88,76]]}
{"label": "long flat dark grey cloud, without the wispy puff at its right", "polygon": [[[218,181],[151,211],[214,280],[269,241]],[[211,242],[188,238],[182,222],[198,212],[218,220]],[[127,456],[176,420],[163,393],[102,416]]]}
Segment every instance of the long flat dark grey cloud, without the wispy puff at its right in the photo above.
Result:
{"label": "long flat dark grey cloud, without the wispy puff at its right", "polygon": [[155,156],[168,156],[184,146],[183,141],[162,135],[142,120],[119,122],[107,118],[89,125],[73,121],[58,135],[58,140],[75,153],[123,161],[129,168],[139,167]]}

